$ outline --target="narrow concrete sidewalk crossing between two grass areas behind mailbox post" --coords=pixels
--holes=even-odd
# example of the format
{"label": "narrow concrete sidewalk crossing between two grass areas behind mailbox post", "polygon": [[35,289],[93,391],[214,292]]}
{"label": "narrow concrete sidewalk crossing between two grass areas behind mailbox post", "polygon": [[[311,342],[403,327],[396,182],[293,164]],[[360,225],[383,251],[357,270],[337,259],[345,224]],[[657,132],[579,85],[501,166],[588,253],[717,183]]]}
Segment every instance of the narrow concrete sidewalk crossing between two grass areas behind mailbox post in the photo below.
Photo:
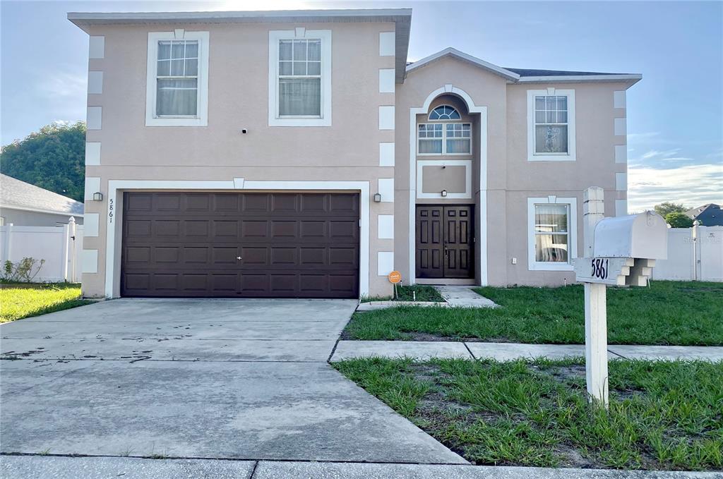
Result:
{"label": "narrow concrete sidewalk crossing between two grass areas behind mailbox post", "polygon": [[[718,346],[609,345],[608,359],[723,361]],[[513,361],[520,358],[562,359],[584,356],[585,345],[533,345],[515,342],[339,341],[331,361],[348,358],[463,358]]]}

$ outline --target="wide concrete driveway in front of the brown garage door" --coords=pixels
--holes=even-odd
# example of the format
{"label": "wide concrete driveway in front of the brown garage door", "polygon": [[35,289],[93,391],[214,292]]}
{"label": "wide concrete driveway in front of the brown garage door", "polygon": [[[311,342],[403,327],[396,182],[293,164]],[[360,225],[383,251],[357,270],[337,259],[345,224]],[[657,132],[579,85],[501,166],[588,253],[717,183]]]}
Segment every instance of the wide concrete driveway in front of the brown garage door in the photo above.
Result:
{"label": "wide concrete driveway in front of the brown garage door", "polygon": [[1,452],[463,463],[326,363],[355,306],[119,299],[4,324]]}

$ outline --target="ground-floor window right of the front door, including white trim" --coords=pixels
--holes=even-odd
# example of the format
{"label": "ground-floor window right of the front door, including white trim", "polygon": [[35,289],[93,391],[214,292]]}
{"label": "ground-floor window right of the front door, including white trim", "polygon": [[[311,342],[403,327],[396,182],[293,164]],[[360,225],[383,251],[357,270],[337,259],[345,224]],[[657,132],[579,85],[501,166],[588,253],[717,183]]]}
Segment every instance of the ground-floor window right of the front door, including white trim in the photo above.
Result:
{"label": "ground-floor window right of the front door, including white trim", "polygon": [[530,270],[570,270],[577,256],[576,198],[528,199]]}

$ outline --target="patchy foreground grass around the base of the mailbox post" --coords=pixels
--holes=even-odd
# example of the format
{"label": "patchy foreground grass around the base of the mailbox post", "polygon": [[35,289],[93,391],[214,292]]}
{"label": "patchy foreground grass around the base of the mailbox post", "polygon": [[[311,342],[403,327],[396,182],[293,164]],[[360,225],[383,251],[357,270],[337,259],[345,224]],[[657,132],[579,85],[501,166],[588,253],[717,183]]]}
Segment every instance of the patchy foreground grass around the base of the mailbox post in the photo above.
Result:
{"label": "patchy foreground grass around the base of the mailbox post", "polygon": [[611,361],[609,413],[587,403],[581,359],[333,366],[478,465],[723,467],[723,362]]}

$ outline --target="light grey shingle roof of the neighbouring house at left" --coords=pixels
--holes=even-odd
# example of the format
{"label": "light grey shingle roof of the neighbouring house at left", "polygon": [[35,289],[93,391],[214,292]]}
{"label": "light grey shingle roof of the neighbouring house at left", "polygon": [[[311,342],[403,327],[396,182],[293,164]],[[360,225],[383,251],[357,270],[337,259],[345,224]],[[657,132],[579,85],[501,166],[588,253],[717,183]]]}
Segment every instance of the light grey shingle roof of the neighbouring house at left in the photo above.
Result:
{"label": "light grey shingle roof of the neighbouring house at left", "polygon": [[83,215],[83,204],[72,198],[0,174],[0,207],[64,215]]}

